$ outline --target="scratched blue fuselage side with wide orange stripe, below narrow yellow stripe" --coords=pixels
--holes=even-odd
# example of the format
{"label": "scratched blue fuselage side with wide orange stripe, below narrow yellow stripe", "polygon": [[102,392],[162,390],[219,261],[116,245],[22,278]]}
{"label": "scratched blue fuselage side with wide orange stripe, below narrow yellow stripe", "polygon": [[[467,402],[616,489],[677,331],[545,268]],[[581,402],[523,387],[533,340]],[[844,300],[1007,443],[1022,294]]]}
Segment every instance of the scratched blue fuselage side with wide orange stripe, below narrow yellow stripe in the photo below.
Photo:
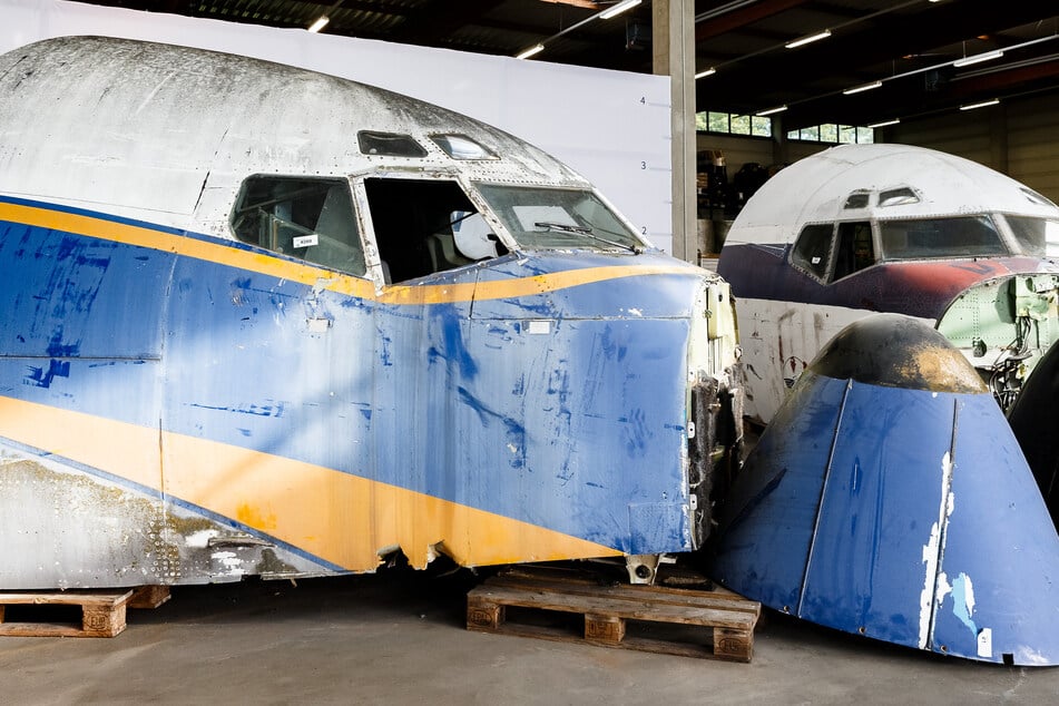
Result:
{"label": "scratched blue fuselage side with wide orange stripe, below narrow yellow stripe", "polygon": [[[18,312],[3,329],[17,356],[0,364],[9,454],[47,452],[126,504],[165,498],[165,517],[204,519],[197,537],[264,538],[276,559],[255,550],[248,563],[275,575],[370,570],[402,542],[418,565],[437,551],[483,563],[690,548],[684,381],[699,271],[643,255],[618,280],[545,281],[529,297],[390,304],[196,257],[200,236],[187,256],[171,238],[163,252],[3,227],[20,247],[0,284]],[[521,286],[511,259],[497,264],[489,280]],[[538,256],[533,274],[573,265]],[[473,292],[488,272],[444,282]],[[65,280],[84,286],[47,286]],[[202,542],[168,536],[155,579],[237,577],[231,548],[203,558]],[[82,585],[78,552],[62,556],[45,580]],[[4,585],[24,578],[2,571]],[[144,582],[122,571],[102,582]]]}

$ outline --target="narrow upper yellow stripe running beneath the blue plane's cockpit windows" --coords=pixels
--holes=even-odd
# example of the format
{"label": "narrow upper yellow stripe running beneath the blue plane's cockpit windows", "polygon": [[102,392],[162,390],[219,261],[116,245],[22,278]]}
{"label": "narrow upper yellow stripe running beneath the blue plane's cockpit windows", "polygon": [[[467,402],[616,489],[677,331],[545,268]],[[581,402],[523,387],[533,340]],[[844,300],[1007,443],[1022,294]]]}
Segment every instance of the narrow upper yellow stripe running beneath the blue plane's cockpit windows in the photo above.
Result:
{"label": "narrow upper yellow stripe running beneath the blue plane's cockpit windows", "polygon": [[666,265],[587,267],[531,277],[467,284],[394,285],[386,286],[380,294],[376,294],[374,284],[361,277],[343,275],[330,269],[313,267],[308,264],[290,262],[265,253],[174,235],[149,227],[115,223],[95,216],[70,214],[38,206],[0,203],[0,220],[22,223],[40,228],[51,228],[86,237],[174,253],[386,304],[421,305],[470,302],[472,300],[516,298],[621,277],[696,272],[692,265],[674,261]]}

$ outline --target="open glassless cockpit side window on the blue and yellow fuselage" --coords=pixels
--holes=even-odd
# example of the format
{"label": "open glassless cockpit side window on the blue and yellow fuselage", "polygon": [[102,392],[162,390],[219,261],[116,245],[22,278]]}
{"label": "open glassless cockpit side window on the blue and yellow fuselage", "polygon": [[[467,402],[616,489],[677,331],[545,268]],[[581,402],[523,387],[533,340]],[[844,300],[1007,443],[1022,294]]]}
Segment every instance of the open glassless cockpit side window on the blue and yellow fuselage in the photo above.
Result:
{"label": "open glassless cockpit side window on the blue and yellow fuselage", "polygon": [[367,178],[379,255],[388,282],[404,282],[507,253],[453,180]]}

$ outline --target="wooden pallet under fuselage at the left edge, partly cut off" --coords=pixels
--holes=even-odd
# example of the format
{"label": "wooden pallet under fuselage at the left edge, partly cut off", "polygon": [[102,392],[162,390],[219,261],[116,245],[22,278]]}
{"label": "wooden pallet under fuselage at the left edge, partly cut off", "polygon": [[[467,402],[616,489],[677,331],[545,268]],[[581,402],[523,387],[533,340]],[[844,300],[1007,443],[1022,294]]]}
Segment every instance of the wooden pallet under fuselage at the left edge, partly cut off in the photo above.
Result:
{"label": "wooden pallet under fuselage at the left edge, partly cut off", "polygon": [[[157,608],[167,600],[168,586],[109,591],[0,591],[0,637],[114,637],[125,630],[126,608]],[[17,605],[80,606],[81,624],[4,622],[4,608]]]}

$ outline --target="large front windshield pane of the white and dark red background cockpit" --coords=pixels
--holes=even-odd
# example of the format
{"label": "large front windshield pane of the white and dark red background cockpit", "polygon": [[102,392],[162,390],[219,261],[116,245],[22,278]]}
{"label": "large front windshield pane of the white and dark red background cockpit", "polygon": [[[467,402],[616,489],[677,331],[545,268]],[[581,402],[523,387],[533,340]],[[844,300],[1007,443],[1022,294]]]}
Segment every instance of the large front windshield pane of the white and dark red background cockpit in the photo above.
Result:
{"label": "large front windshield pane of the white and dark red background cockpit", "polygon": [[990,257],[1008,251],[988,216],[880,220],[884,259]]}

